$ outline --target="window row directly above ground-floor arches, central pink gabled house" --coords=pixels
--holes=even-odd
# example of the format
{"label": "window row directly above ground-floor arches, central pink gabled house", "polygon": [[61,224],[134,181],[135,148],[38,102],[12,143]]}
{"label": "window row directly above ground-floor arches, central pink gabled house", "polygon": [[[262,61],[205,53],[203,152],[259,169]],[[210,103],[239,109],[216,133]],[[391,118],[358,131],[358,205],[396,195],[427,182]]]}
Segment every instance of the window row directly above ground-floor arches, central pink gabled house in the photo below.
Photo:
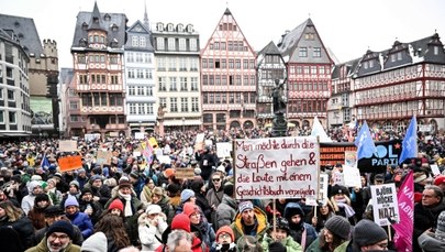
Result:
{"label": "window row directly above ground-floor arches, central pink gabled house", "polygon": [[[243,97],[243,99],[242,99]],[[204,105],[241,105],[255,103],[256,94],[255,92],[204,92],[202,94],[202,102]]]}

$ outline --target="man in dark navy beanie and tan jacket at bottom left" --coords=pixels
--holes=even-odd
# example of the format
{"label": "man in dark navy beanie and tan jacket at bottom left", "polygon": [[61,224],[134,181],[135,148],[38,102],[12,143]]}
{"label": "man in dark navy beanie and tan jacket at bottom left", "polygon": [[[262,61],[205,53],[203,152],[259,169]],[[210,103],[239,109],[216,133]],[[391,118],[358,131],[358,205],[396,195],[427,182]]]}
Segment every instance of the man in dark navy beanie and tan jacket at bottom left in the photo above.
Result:
{"label": "man in dark navy beanie and tan jacket at bottom left", "polygon": [[34,251],[64,251],[79,252],[80,246],[73,244],[74,229],[73,224],[67,220],[58,220],[54,222],[47,230],[45,238],[42,241],[26,250],[25,252]]}

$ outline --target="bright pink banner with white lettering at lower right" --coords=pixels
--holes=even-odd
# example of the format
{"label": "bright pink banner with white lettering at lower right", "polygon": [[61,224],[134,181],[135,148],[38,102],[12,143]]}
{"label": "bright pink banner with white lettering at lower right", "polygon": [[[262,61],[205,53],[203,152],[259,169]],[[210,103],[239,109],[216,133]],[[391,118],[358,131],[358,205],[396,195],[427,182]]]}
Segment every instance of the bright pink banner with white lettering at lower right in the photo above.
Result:
{"label": "bright pink banner with white lettering at lower right", "polygon": [[397,194],[399,200],[400,222],[392,224],[394,228],[394,244],[398,251],[412,251],[412,234],[414,232],[414,180],[413,172],[404,179]]}

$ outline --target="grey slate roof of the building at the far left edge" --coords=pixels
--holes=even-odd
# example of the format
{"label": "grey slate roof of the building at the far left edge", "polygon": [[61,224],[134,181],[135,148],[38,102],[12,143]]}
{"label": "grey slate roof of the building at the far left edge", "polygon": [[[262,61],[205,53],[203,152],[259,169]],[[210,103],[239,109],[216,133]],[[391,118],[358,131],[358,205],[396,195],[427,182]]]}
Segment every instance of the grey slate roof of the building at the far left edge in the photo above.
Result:
{"label": "grey slate roof of the building at the far left edge", "polygon": [[33,19],[0,14],[0,29],[7,33],[12,31],[18,35],[27,56],[33,53],[35,57],[40,58],[43,54],[42,42]]}

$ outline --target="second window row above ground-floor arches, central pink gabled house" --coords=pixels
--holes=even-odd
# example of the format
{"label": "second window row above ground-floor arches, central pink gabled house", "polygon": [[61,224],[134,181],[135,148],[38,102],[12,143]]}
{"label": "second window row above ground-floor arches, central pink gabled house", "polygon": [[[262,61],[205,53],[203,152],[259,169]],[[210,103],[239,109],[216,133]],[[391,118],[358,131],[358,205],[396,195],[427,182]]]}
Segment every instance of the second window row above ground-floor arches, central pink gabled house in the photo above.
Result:
{"label": "second window row above ground-floor arches, central pink gabled house", "polygon": [[255,75],[203,75],[203,86],[255,86]]}

